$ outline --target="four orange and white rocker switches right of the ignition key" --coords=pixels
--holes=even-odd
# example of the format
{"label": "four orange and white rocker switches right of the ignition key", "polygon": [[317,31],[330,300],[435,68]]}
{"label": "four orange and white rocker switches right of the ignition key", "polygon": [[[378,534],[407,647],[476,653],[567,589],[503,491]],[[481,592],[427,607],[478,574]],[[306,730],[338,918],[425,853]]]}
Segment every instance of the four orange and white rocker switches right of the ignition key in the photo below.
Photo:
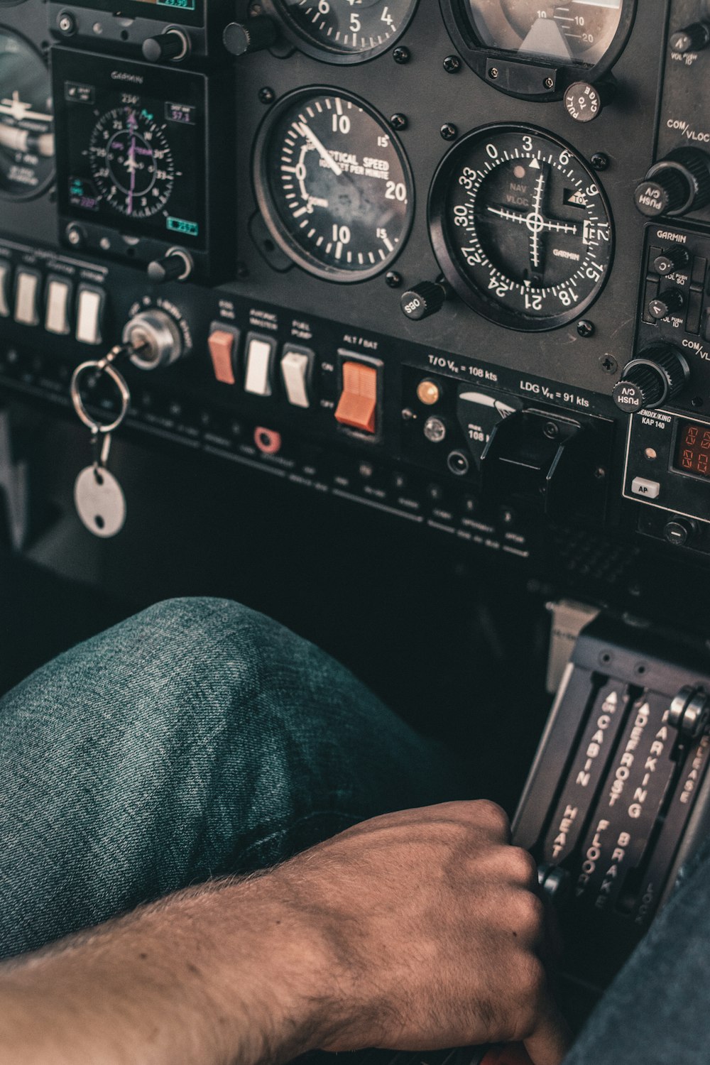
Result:
{"label": "four orange and white rocker switches right of the ignition key", "polygon": [[[245,344],[244,364],[240,363],[241,331],[222,323],[213,323],[209,339],[215,378],[222,384],[242,384],[253,396],[269,397],[276,388],[277,366],[287,402],[292,407],[313,407],[315,353],[295,344],[285,344],[277,360],[275,338],[250,332]],[[335,420],[343,426],[374,436],[378,431],[377,413],[381,366],[358,359],[342,363],[342,389]]]}

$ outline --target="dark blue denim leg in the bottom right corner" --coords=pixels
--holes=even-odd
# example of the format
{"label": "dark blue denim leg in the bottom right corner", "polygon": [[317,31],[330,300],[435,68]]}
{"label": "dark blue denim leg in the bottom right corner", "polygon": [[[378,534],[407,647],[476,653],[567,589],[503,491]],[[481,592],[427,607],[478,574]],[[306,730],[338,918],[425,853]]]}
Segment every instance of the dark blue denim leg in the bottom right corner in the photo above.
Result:
{"label": "dark blue denim leg in the bottom right corner", "polygon": [[710,840],[564,1065],[710,1062]]}

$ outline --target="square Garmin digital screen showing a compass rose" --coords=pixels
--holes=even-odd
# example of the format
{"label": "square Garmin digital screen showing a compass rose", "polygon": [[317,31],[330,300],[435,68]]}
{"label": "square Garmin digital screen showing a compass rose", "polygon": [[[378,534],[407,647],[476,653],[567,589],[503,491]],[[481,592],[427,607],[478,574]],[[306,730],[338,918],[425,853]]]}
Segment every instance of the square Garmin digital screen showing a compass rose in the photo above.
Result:
{"label": "square Garmin digital screen showing a compass rose", "polygon": [[61,213],[203,250],[203,77],[70,49],[52,67]]}

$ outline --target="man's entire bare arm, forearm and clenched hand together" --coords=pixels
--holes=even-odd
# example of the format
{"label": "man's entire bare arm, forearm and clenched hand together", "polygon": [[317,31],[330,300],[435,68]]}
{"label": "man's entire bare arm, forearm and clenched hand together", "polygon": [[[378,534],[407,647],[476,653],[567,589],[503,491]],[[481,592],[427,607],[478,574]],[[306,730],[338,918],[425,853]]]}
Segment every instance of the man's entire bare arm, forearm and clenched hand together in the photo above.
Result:
{"label": "man's entire bare arm, forearm and clenched hand together", "polygon": [[0,965],[0,1065],[277,1065],[524,1039],[560,1065],[532,858],[492,803],[377,818]]}

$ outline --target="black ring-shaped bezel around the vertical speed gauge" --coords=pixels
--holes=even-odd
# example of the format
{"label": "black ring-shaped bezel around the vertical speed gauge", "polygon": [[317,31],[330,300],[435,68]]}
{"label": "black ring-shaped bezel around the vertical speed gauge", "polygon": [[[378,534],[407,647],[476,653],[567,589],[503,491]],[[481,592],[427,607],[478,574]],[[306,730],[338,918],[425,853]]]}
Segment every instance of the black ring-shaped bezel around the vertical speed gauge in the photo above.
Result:
{"label": "black ring-shaped bezel around the vertical speed gauge", "polygon": [[[339,269],[335,266],[326,266],[315,257],[309,256],[306,249],[293,240],[292,234],[288,232],[286,226],[281,219],[278,208],[271,201],[269,186],[269,148],[274,129],[284,112],[292,108],[296,100],[299,98],[312,99],[313,97],[319,96],[340,96],[341,99],[350,100],[356,106],[362,108],[362,110],[378,124],[382,131],[387,134],[402,165],[404,180],[407,181],[410,196],[407,225],[402,230],[401,239],[394,255],[390,256],[390,258],[384,262],[376,263],[376,265],[370,269]],[[386,119],[379,113],[379,111],[371,106],[371,104],[367,103],[366,100],[363,100],[362,97],[357,96],[354,93],[343,92],[333,85],[309,85],[306,88],[297,88],[283,96],[277,103],[274,104],[271,111],[264,118],[259,128],[257,140],[254,141],[251,171],[254,197],[269,233],[277,242],[281,250],[284,251],[292,260],[292,262],[294,262],[297,266],[300,266],[308,274],[320,278],[323,281],[331,281],[336,284],[358,284],[362,281],[369,281],[371,278],[378,277],[380,274],[390,269],[407,245],[412,231],[412,226],[414,224],[414,214],[416,210],[416,192],[412,166],[399,137],[394,133]]]}

